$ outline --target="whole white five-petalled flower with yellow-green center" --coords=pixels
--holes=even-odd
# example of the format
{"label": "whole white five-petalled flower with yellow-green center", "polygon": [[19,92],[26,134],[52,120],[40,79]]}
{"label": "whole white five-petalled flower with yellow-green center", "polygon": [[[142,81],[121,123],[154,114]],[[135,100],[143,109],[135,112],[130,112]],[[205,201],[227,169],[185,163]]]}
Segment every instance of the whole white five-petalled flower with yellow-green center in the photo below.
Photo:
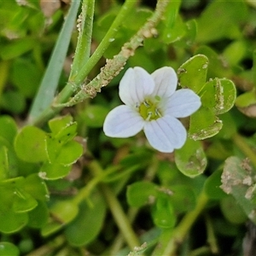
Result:
{"label": "whole white five-petalled flower with yellow-green center", "polygon": [[193,90],[176,88],[177,74],[172,67],[161,67],[151,75],[142,67],[129,68],[119,84],[125,105],[108,113],[103,131],[108,137],[131,137],[143,130],[160,152],[181,148],[187,132],[177,118],[194,113],[201,100]]}

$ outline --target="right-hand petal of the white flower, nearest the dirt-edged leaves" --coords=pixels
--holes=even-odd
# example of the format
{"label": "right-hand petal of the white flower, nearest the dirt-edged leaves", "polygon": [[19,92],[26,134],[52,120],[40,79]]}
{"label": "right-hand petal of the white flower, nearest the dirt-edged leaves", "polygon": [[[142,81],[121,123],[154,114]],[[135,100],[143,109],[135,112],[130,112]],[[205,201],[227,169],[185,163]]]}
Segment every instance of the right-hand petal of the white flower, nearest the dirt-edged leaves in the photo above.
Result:
{"label": "right-hand petal of the white flower, nearest the dirt-edged leaves", "polygon": [[200,96],[197,96],[193,90],[181,89],[175,91],[168,99],[164,114],[169,114],[176,118],[183,118],[189,116],[191,113],[195,113],[200,107]]}

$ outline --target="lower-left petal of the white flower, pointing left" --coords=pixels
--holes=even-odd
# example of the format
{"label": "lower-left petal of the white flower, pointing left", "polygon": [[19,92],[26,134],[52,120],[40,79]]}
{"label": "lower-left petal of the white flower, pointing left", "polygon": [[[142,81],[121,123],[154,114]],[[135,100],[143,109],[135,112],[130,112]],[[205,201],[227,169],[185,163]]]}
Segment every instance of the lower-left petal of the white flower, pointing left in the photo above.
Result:
{"label": "lower-left petal of the white flower, pointing left", "polygon": [[108,137],[131,137],[143,130],[144,122],[135,110],[121,105],[108,113],[103,131]]}

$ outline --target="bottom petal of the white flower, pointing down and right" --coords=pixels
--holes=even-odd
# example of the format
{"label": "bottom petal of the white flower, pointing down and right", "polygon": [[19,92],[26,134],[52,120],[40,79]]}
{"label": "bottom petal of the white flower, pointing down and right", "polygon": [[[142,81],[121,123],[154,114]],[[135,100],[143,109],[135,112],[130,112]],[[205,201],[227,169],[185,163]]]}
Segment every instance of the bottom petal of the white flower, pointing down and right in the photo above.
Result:
{"label": "bottom petal of the white flower, pointing down and right", "polygon": [[182,123],[172,116],[146,123],[144,132],[148,143],[153,148],[166,153],[171,153],[175,148],[181,148],[187,137],[187,131]]}

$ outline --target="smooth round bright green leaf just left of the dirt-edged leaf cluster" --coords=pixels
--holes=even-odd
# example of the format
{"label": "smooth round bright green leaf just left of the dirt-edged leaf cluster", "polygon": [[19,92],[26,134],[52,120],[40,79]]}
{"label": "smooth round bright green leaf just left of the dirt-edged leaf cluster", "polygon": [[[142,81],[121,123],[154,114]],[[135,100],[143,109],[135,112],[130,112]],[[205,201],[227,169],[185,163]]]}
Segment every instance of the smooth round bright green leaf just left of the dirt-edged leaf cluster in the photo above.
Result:
{"label": "smooth round bright green leaf just left of the dirt-edged leaf cluster", "polygon": [[35,126],[24,127],[15,138],[15,151],[21,160],[37,163],[47,159],[45,132]]}

